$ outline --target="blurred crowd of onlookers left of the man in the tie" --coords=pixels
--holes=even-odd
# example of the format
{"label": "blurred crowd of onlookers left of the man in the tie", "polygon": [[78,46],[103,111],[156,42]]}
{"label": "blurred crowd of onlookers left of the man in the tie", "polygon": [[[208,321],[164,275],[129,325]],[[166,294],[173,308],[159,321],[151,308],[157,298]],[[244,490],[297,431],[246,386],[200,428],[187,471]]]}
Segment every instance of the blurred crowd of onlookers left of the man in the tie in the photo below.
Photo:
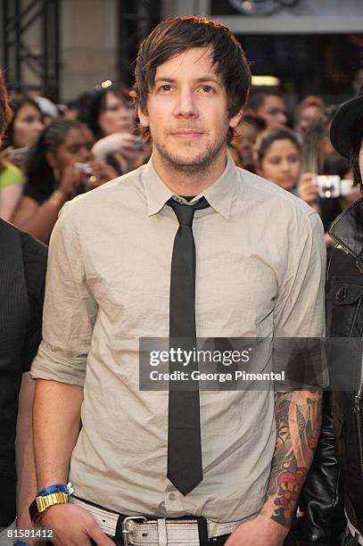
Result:
{"label": "blurred crowd of onlookers left of the man in the tie", "polygon": [[44,97],[11,96],[0,215],[46,243],[66,201],[132,170],[147,150],[135,134],[130,97],[122,88],[89,95],[83,114],[73,105],[61,115],[39,98]]}

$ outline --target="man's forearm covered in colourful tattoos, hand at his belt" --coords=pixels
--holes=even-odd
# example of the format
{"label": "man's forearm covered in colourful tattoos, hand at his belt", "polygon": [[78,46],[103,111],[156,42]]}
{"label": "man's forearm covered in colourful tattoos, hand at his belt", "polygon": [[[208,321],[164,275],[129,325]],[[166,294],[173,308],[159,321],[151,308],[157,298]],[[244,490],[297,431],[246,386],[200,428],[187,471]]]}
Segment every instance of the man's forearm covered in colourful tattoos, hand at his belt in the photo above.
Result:
{"label": "man's forearm covered in colourful tattoos, hand at his belt", "polygon": [[226,546],[282,546],[309,472],[321,425],[320,390],[275,394],[276,446],[268,492],[258,517],[235,530]]}

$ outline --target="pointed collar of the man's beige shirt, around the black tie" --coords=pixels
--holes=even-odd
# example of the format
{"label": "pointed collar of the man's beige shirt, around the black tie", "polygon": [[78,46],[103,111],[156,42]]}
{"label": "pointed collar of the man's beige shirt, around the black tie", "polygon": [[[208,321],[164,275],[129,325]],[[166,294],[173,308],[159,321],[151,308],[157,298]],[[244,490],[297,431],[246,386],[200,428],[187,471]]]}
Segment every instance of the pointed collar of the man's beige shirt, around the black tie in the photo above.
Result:
{"label": "pointed collar of the man's beige shirt, around the black tie", "polygon": [[[205,197],[210,206],[219,212],[225,219],[229,219],[232,199],[235,193],[235,184],[237,182],[237,171],[235,163],[227,153],[226,169],[217,180],[208,186],[201,194],[198,194],[188,203],[193,204],[201,197]],[[169,187],[164,184],[156,170],[153,167],[153,156],[145,165],[144,169],[144,188],[147,200],[147,214],[152,216],[161,211],[170,197],[175,196]],[[179,198],[177,199],[179,201]]]}

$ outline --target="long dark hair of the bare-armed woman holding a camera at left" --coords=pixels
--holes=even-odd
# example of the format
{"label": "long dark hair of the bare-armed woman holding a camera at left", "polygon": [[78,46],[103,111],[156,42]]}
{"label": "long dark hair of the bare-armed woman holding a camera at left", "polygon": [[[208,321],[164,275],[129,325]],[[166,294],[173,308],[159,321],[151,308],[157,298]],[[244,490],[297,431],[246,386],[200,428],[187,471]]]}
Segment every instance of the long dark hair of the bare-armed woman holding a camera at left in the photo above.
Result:
{"label": "long dark hair of the bare-armed woman holding a camera at left", "polygon": [[56,180],[54,170],[49,165],[46,154],[56,152],[67,138],[70,129],[82,128],[78,121],[74,120],[54,120],[46,126],[41,132],[37,145],[29,154],[27,164],[28,185],[37,187],[45,194],[51,193]]}

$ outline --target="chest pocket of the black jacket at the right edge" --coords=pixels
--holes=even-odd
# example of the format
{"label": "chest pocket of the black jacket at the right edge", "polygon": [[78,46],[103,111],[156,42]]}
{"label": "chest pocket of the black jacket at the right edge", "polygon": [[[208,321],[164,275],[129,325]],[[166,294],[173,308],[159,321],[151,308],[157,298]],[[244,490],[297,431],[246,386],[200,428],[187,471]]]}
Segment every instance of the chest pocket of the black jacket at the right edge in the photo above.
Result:
{"label": "chest pocket of the black jacket at the right edge", "polygon": [[363,332],[363,284],[334,278],[327,287],[326,331],[329,337],[360,337]]}

